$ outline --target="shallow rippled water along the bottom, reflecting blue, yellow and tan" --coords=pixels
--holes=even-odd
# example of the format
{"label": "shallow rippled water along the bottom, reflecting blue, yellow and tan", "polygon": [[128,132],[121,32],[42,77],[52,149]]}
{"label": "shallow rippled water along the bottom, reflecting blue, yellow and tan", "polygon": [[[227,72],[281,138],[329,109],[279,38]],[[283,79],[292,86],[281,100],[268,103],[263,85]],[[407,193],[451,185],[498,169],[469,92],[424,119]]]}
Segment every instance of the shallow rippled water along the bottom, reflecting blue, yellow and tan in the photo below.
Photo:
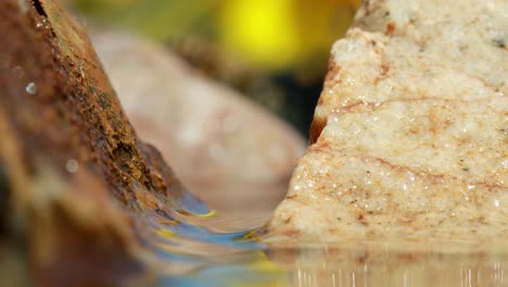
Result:
{"label": "shallow rippled water along the bottom, reflecting blue, yellow and tan", "polygon": [[212,232],[211,223],[234,219],[191,196],[172,210],[136,220],[157,286],[508,286],[503,239],[268,244],[257,229]]}

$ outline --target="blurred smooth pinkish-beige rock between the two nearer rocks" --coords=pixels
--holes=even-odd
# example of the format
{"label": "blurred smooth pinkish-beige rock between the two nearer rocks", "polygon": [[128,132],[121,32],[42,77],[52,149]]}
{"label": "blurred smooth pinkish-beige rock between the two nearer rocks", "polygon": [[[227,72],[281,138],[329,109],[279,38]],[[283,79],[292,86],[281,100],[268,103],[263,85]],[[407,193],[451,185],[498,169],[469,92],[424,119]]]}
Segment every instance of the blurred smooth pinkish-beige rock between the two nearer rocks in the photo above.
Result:
{"label": "blurred smooth pinkish-beige rock between the two nearer rocks", "polygon": [[140,137],[228,222],[221,228],[264,224],[284,197],[304,150],[300,135],[170,51],[132,35],[92,35]]}

